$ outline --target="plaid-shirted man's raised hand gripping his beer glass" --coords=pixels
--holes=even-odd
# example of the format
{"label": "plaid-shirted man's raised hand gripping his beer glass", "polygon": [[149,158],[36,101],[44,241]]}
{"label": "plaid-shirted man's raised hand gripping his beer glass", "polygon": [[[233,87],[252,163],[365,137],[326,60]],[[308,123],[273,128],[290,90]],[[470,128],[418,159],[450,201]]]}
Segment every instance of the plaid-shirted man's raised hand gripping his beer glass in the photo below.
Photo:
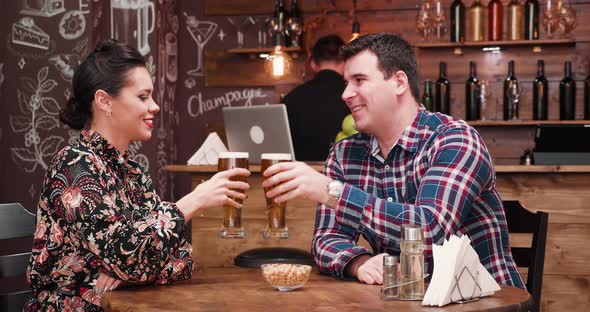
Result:
{"label": "plaid-shirted man's raised hand gripping his beer glass", "polygon": [[302,162],[278,163],[266,169],[263,175],[264,188],[275,186],[266,196],[274,198],[276,203],[294,198],[305,198],[320,203],[328,201],[327,185],[332,179]]}

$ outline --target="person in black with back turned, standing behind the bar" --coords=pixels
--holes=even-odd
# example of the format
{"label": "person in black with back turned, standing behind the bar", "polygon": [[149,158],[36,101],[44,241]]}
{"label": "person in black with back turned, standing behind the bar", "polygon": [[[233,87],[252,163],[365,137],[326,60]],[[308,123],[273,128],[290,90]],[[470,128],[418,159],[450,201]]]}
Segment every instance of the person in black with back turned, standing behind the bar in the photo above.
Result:
{"label": "person in black with back turned, standing behind the bar", "polygon": [[326,160],[342,120],[349,114],[342,101],[344,42],[336,35],[320,38],[311,50],[314,77],[285,96],[297,160]]}

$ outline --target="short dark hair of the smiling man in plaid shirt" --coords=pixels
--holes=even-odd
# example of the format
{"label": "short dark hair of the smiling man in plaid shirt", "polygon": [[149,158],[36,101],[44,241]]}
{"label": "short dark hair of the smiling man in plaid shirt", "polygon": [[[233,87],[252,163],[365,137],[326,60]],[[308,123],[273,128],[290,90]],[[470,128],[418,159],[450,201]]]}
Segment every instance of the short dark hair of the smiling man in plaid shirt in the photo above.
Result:
{"label": "short dark hair of the smiling man in plaid shirt", "polygon": [[420,78],[418,64],[412,47],[400,36],[391,33],[378,33],[358,37],[342,48],[344,60],[369,50],[377,56],[379,70],[385,79],[401,70],[408,76],[410,91],[416,101],[419,98]]}

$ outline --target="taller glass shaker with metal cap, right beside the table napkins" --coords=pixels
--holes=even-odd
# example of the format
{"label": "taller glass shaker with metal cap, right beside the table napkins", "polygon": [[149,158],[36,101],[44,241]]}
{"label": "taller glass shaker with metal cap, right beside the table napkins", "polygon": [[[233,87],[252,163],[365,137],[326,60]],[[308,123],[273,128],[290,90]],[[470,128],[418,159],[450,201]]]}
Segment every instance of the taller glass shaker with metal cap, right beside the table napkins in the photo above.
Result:
{"label": "taller glass shaker with metal cap, right beside the table napkins", "polygon": [[417,225],[401,226],[400,299],[424,298],[424,231]]}

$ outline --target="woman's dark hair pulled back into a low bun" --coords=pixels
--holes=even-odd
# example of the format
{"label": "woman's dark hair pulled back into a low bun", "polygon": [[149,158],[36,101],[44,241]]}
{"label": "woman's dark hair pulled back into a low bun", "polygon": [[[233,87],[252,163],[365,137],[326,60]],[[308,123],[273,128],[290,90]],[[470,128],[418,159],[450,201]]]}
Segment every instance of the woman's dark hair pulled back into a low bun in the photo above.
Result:
{"label": "woman's dark hair pulled back into a low bun", "polygon": [[92,119],[92,102],[97,90],[117,96],[125,86],[129,70],[145,66],[137,49],[113,39],[99,42],[76,68],[72,78],[74,95],[59,111],[59,119],[72,129],[80,130]]}

